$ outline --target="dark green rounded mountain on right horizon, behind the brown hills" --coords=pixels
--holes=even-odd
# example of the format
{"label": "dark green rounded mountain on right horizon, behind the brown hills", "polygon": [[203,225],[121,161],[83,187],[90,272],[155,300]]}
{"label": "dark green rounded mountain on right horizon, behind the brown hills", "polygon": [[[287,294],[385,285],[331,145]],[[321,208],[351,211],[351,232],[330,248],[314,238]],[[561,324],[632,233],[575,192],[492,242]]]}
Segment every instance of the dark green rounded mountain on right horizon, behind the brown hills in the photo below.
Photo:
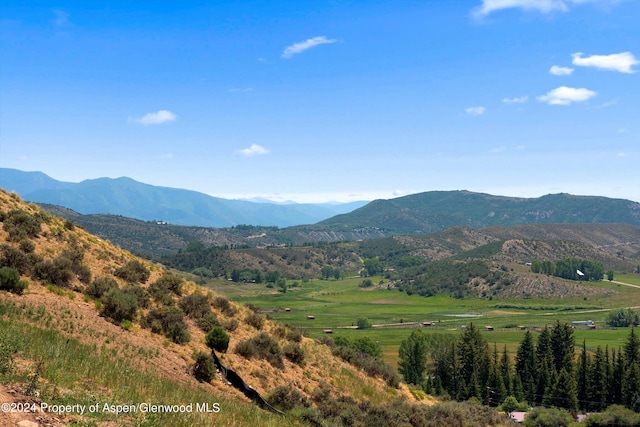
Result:
{"label": "dark green rounded mountain on right horizon, behind the brown hills", "polygon": [[321,221],[314,229],[347,233],[373,227],[389,235],[433,233],[454,226],[553,223],[640,225],[640,203],[569,194],[524,199],[469,191],[432,191],[376,200],[351,213]]}

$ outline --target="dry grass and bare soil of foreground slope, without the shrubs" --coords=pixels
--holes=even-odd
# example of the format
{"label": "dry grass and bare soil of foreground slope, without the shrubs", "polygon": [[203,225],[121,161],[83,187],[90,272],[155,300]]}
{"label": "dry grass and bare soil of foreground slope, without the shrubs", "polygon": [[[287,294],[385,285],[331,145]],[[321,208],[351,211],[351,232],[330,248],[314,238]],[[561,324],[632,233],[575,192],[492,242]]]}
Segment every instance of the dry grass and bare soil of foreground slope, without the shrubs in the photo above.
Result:
{"label": "dry grass and bare soil of foreground slope, without the shrubs", "polygon": [[[185,320],[190,340],[177,344],[166,334],[152,332],[153,327],[144,327],[143,319],[149,312],[162,307],[157,300],[141,306],[131,321],[114,322],[101,315],[101,302],[83,293],[100,277],[115,280],[120,289],[148,292],[150,285],[166,274],[162,266],[137,259],[4,191],[0,191],[0,218],[2,267],[23,269],[20,279],[28,283],[22,293],[0,290],[1,403],[84,405],[87,410],[99,405],[98,410],[84,414],[3,412],[0,425],[21,420],[56,425],[304,424],[299,416],[282,417],[259,409],[219,377],[210,383],[198,382],[192,375],[194,357],[208,348],[204,332],[194,320]],[[29,226],[34,223],[38,227],[31,233]],[[23,235],[16,229],[27,232]],[[73,261],[67,265],[64,259],[69,258]],[[131,262],[149,272],[139,284],[131,285],[130,280],[117,276]],[[67,268],[74,274],[54,274]],[[184,297],[196,292],[206,295],[220,324],[233,325],[228,328],[230,346],[222,356],[223,363],[265,396],[278,387],[288,387],[311,397],[322,387],[332,396],[346,395],[373,405],[398,398],[416,401],[406,386],[390,388],[381,379],[368,377],[333,357],[326,346],[304,337],[299,344],[304,364],[282,358],[281,366],[274,366],[263,359],[246,359],[233,351],[239,342],[266,332],[283,348],[289,330],[269,320],[258,330],[247,323],[254,314],[248,308],[231,303],[231,310],[222,310],[213,304],[219,294],[191,282],[183,283],[179,294]],[[177,305],[177,297],[171,298],[171,304]],[[184,409],[178,414],[153,413],[143,411],[141,404],[183,405]],[[204,411],[216,407],[219,412]],[[109,408],[137,411],[116,414]]]}

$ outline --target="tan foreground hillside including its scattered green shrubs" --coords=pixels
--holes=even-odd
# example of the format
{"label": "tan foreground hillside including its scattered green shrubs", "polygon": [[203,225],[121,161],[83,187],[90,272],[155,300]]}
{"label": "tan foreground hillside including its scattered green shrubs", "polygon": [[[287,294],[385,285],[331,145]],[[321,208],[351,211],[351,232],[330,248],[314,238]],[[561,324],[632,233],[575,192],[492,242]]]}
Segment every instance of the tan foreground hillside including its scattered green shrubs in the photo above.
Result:
{"label": "tan foreground hillside including its scattered green shrubs", "polygon": [[[295,415],[282,418],[257,408],[215,375],[204,382],[194,378],[196,356],[208,351],[205,331],[219,328],[230,337],[225,365],[280,403],[271,392],[294,393],[309,402],[308,416],[318,423],[324,423],[325,414],[316,405],[332,407],[340,396],[356,407],[366,400],[362,416],[395,398],[415,401],[404,385],[389,387],[299,332],[140,260],[15,194],[0,192],[0,222],[0,347],[9,357],[2,359],[9,360],[0,375],[2,396],[33,399],[37,391],[37,399],[49,404],[175,405],[195,399],[218,402],[223,424],[300,425],[302,418]],[[9,270],[16,272],[15,281]],[[247,353],[251,346],[257,353]],[[268,353],[263,355],[263,348]],[[318,389],[322,395],[315,393]],[[139,425],[144,417],[74,414],[59,423]],[[151,416],[146,422],[219,425],[220,418],[194,412]]]}

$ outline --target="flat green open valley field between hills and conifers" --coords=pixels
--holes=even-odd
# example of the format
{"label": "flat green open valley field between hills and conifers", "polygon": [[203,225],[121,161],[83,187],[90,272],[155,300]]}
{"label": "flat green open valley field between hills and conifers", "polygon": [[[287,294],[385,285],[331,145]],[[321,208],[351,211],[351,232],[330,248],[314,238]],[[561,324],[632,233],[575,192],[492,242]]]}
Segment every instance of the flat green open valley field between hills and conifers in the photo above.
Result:
{"label": "flat green open valley field between hills and conifers", "polygon": [[[639,275],[617,275],[616,281],[639,284]],[[459,333],[460,327],[470,322],[484,328],[487,341],[499,350],[506,344],[512,356],[524,334],[518,326],[536,330],[545,325],[579,320],[593,320],[595,330],[576,329],[576,344],[586,340],[587,347],[598,345],[618,347],[628,335],[627,329],[608,328],[604,324],[607,312],[613,308],[640,306],[640,289],[607,281],[585,283],[613,291],[610,295],[575,298],[530,299],[455,299],[448,296],[421,297],[388,290],[384,282],[372,288],[359,288],[361,278],[339,281],[312,280],[299,282],[299,287],[286,293],[266,288],[264,284],[235,284],[216,281],[208,286],[228,295],[239,303],[250,303],[267,312],[272,318],[301,328],[307,336],[320,337],[325,330],[331,336],[361,336],[366,334],[378,341],[384,350],[385,360],[396,364],[398,347],[412,328],[422,327],[422,322],[432,322],[426,327],[432,333]],[[380,277],[374,278],[379,283]],[[285,311],[285,308],[291,311]],[[315,319],[307,319],[313,315]],[[374,328],[357,330],[358,318],[366,317]]]}

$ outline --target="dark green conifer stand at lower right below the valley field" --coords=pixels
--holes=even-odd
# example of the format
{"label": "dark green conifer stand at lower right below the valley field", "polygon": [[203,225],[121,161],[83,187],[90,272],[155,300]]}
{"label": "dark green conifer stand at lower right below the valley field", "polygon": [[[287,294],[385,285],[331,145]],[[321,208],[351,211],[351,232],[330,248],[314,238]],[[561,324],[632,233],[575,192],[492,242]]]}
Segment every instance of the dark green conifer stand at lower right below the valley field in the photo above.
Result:
{"label": "dark green conifer stand at lower right below the valley field", "polygon": [[473,324],[459,337],[436,338],[416,330],[401,344],[399,356],[406,382],[459,401],[498,406],[511,396],[573,413],[616,404],[640,412],[640,338],[634,328],[617,351],[598,346],[589,353],[583,343],[576,358],[573,329],[557,321],[537,340],[525,332],[514,362],[506,346],[490,349]]}

